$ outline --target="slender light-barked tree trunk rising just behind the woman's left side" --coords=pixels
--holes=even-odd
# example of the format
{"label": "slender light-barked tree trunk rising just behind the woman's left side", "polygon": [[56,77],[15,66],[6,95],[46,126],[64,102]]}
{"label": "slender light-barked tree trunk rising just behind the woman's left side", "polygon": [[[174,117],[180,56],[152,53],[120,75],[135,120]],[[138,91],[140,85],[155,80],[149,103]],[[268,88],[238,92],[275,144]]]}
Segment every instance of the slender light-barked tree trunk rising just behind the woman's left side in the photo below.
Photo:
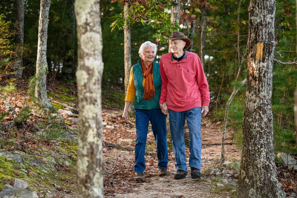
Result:
{"label": "slender light-barked tree trunk rising just behind the woman's left side", "polygon": [[125,95],[127,93],[127,88],[129,84],[130,69],[131,69],[131,26],[128,23],[128,18],[130,14],[130,2],[124,1],[124,65],[125,65]]}

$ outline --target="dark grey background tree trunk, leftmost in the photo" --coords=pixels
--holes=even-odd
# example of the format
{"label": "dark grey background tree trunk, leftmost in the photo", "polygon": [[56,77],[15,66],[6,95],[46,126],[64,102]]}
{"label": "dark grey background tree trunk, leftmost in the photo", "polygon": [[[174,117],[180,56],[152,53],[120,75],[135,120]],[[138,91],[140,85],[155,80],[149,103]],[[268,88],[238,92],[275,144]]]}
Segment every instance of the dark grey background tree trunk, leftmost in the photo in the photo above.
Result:
{"label": "dark grey background tree trunk, leftmost in the photo", "polygon": [[23,48],[24,48],[24,0],[16,0],[16,59],[15,59],[15,77],[21,78],[23,75]]}

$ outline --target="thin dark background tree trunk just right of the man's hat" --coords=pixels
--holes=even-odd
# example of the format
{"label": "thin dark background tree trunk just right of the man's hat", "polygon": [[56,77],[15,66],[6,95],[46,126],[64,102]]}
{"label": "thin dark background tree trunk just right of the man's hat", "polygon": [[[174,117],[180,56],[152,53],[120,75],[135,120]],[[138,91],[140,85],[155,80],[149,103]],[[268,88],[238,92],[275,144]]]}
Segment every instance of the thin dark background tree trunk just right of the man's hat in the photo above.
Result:
{"label": "thin dark background tree trunk just right of the man's hat", "polygon": [[203,66],[203,69],[205,71],[205,60],[204,60],[204,55],[205,55],[205,26],[206,26],[206,7],[205,7],[205,0],[201,1],[200,4],[200,21],[199,21],[199,36],[200,36],[200,41],[199,41],[199,55],[200,55],[200,60],[201,64]]}

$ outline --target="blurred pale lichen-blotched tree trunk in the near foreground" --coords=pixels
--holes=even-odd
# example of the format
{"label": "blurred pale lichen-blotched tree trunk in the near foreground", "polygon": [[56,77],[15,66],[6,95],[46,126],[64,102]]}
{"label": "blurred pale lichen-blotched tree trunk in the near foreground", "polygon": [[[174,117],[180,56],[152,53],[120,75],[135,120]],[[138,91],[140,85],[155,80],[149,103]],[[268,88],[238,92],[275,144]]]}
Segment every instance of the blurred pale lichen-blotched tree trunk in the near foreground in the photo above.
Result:
{"label": "blurred pale lichen-blotched tree trunk in the near foreground", "polygon": [[78,197],[103,197],[101,81],[102,31],[99,0],[76,0],[78,36]]}

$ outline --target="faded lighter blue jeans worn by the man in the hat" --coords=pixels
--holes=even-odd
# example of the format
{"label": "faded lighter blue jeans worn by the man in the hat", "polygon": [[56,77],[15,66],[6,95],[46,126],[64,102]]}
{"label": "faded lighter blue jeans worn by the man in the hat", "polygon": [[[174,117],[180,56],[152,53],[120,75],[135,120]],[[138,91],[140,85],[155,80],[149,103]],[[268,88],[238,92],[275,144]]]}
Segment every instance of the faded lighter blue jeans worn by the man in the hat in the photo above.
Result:
{"label": "faded lighter blue jeans worn by the man in the hat", "polygon": [[184,140],[185,119],[188,121],[190,137],[190,158],[189,167],[201,168],[201,107],[176,112],[169,110],[169,123],[172,138],[173,154],[176,159],[176,170],[187,171],[186,146]]}

